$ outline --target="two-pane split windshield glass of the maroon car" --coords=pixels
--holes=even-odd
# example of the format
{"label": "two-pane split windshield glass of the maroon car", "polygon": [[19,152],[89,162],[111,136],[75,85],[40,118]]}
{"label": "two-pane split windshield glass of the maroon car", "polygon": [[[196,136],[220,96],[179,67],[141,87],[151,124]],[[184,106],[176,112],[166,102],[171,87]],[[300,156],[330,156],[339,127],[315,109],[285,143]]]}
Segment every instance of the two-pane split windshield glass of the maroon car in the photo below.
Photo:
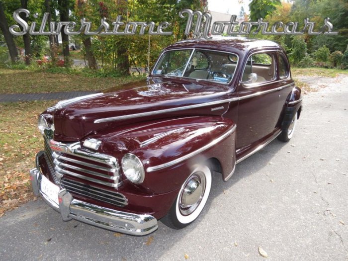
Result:
{"label": "two-pane split windshield glass of the maroon car", "polygon": [[153,75],[185,77],[227,84],[235,73],[238,57],[206,50],[174,50],[161,56]]}

